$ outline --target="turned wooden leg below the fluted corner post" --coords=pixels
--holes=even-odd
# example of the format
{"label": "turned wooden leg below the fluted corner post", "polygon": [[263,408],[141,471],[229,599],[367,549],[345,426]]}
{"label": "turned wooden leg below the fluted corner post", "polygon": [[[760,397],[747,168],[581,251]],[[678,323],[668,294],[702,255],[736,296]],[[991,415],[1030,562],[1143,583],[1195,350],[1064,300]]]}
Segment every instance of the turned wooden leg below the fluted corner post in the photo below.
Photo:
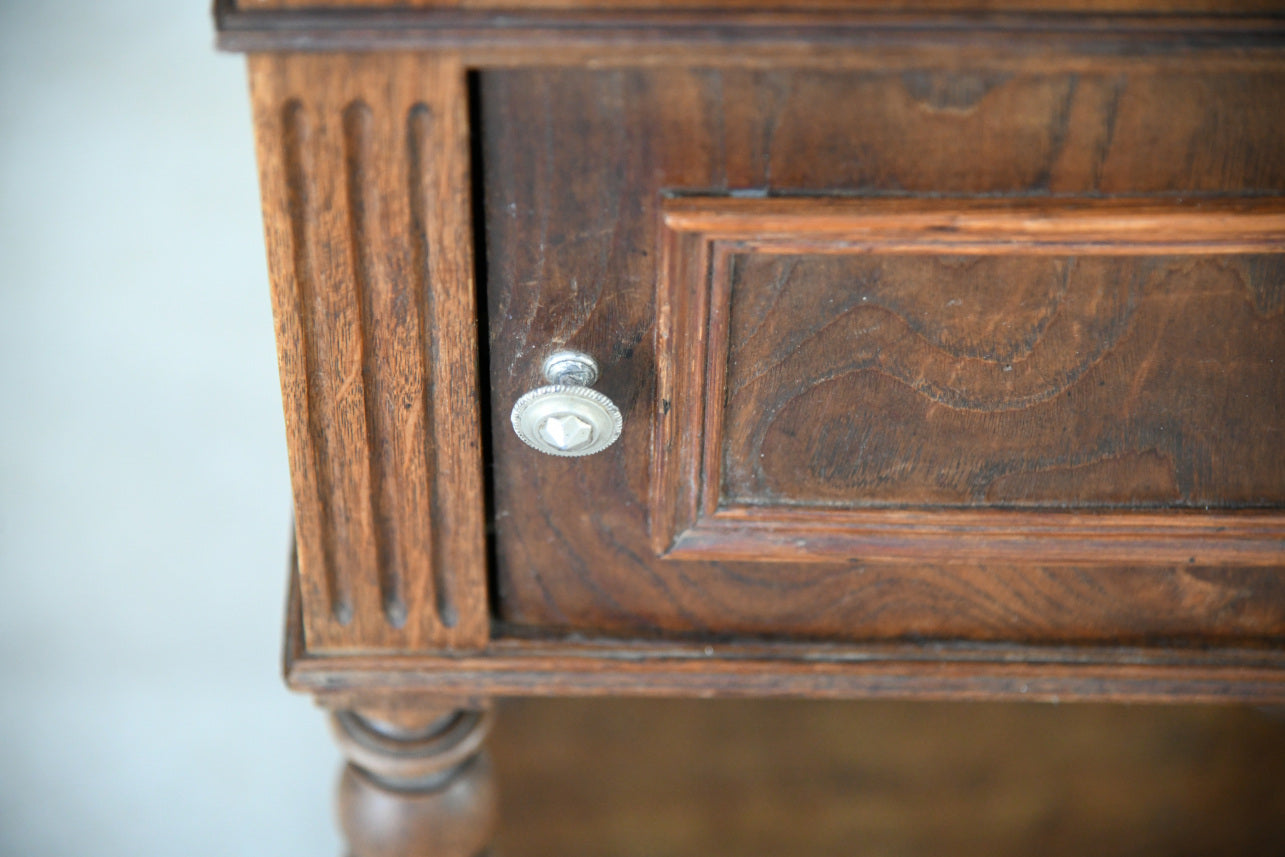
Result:
{"label": "turned wooden leg below the fluted corner post", "polygon": [[490,711],[341,711],[339,827],[352,857],[478,857],[495,829]]}

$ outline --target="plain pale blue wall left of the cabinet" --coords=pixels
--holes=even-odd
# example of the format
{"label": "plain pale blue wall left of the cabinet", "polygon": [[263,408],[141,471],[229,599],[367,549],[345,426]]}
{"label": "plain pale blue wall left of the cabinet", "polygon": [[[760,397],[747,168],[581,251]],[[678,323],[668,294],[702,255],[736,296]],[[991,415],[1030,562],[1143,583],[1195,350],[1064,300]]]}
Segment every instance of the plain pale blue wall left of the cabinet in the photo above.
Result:
{"label": "plain pale blue wall left of the cabinet", "polygon": [[0,854],[338,854],[279,678],[245,78],[204,0],[0,0]]}

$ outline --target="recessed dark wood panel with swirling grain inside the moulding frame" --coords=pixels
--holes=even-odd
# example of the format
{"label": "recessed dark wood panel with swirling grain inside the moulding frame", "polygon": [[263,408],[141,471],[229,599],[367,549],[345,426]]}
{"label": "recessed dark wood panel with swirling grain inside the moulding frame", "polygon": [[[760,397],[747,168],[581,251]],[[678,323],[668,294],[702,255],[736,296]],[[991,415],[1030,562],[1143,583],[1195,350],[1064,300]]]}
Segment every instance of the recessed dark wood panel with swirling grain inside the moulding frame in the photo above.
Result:
{"label": "recessed dark wood panel with swirling grain inside the moulding frame", "polygon": [[729,263],[721,504],[1285,501],[1281,252]]}

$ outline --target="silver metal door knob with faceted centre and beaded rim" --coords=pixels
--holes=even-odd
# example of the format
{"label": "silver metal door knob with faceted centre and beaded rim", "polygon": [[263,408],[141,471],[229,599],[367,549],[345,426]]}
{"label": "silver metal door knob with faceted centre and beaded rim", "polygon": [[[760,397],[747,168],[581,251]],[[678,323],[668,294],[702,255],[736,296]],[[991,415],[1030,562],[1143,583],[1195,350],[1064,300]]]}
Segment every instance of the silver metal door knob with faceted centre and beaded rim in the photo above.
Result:
{"label": "silver metal door knob with faceted centre and beaded rim", "polygon": [[598,361],[580,351],[556,351],[541,369],[549,385],[513,405],[513,430],[522,442],[563,456],[592,455],[614,443],[623,418],[612,400],[590,389],[598,380]]}

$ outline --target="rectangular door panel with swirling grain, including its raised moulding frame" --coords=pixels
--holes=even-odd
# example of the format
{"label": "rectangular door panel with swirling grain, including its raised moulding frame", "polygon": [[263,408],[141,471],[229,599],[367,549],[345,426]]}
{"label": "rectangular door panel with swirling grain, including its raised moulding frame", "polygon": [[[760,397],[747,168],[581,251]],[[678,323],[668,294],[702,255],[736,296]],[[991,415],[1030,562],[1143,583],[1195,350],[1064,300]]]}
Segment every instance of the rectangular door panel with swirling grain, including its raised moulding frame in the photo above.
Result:
{"label": "rectangular door panel with swirling grain, including its raised moulding frame", "polygon": [[1280,200],[663,211],[657,551],[1285,556]]}

